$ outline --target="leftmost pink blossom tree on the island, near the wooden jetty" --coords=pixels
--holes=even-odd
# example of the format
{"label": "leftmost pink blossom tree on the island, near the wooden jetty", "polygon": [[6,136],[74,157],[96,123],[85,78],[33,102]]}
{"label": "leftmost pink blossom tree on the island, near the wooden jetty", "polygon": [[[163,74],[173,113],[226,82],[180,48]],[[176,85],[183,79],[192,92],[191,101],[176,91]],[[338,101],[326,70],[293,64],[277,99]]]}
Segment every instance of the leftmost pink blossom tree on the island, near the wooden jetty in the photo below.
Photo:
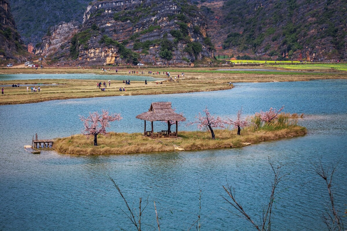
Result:
{"label": "leftmost pink blossom tree on the island, near the wooden jetty", "polygon": [[98,146],[97,136],[98,134],[107,135],[106,128],[110,127],[110,122],[121,120],[120,114],[109,114],[108,110],[102,109],[102,114],[98,112],[89,113],[89,116],[79,116],[79,119],[83,122],[84,130],[82,134],[89,136],[94,135],[94,146]]}

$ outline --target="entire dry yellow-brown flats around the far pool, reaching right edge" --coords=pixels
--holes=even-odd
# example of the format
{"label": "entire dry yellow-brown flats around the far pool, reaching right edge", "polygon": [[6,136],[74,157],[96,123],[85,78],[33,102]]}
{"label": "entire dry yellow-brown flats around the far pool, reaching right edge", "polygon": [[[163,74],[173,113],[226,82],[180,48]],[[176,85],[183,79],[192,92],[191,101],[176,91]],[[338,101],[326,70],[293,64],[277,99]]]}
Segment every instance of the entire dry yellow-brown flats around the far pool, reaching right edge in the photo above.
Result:
{"label": "entire dry yellow-brown flats around the far pool, reaching right edge", "polygon": [[[17,68],[7,70],[10,74],[14,70],[18,72],[27,70],[27,68]],[[180,94],[189,92],[202,92],[202,91],[216,91],[216,90],[227,90],[234,86],[229,86],[231,83],[242,83],[242,82],[291,82],[291,81],[310,81],[310,80],[328,80],[328,79],[347,79],[346,72],[329,72],[326,73],[326,69],[316,72],[269,72],[261,71],[257,73],[254,71],[238,71],[237,73],[228,73],[225,71],[216,71],[213,68],[155,68],[160,71],[160,75],[153,74],[129,74],[129,70],[135,71],[149,71],[150,68],[142,69],[138,67],[119,69],[118,73],[115,72],[116,67],[112,67],[111,71],[103,72],[98,69],[64,69],[59,70],[62,72],[57,73],[57,68],[49,69],[38,69],[38,70],[27,70],[25,74],[96,74],[100,76],[100,79],[35,79],[35,80],[0,80],[0,85],[12,85],[12,83],[19,83],[20,85],[37,85],[39,83],[45,83],[50,85],[56,83],[57,85],[44,86],[41,88],[41,92],[31,94],[29,90],[26,92],[26,87],[4,87],[5,95],[0,98],[0,105],[14,105],[14,104],[25,104],[25,103],[39,103],[50,100],[64,100],[64,99],[77,99],[77,98],[94,98],[94,97],[107,97],[107,96],[128,96],[128,95],[160,95],[160,94]],[[97,72],[100,73],[97,73]],[[165,78],[166,75],[162,75],[163,71],[169,71],[171,77],[175,80],[175,76],[185,73],[185,77],[177,79],[176,81],[162,80],[159,78]],[[1,70],[0,70],[1,72]],[[22,72],[20,72],[22,73]],[[16,74],[16,73],[13,73]],[[108,82],[110,75],[123,75],[129,76],[124,78],[136,77],[154,77],[158,80],[147,81],[147,85],[144,85],[144,81],[131,81],[130,86],[125,86],[121,80],[112,80],[111,86],[106,91],[100,91],[95,88],[95,82]],[[105,77],[103,77],[105,76]],[[39,76],[38,76],[39,77]],[[63,77],[63,76],[62,76]],[[103,79],[104,78],[104,79]],[[156,82],[163,82],[163,84],[156,84]],[[125,87],[126,91],[120,92],[119,88]]]}

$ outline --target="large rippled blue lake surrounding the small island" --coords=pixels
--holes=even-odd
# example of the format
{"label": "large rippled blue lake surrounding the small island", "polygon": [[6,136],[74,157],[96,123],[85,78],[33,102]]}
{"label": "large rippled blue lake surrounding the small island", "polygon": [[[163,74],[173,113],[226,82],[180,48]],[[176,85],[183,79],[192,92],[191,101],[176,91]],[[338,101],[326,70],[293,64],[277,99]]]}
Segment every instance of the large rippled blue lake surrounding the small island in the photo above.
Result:
{"label": "large rippled blue lake surrounding the small island", "polygon": [[[312,162],[322,158],[327,167],[338,162],[333,192],[336,206],[345,210],[347,81],[234,85],[225,91],[0,106],[0,230],[134,230],[121,211],[126,210],[124,202],[108,175],[132,207],[138,207],[139,197],[148,197],[144,230],[155,230],[154,200],[161,230],[187,230],[197,219],[199,187],[203,192],[202,230],[254,230],[225,210],[232,208],[220,195],[225,195],[222,185],[227,180],[245,210],[259,221],[271,190],[268,157],[286,164],[283,173],[290,174],[278,186],[272,229],[326,230],[318,214],[329,202],[327,189],[314,173]],[[206,105],[222,116],[235,116],[241,106],[245,114],[253,114],[285,105],[286,112],[306,115],[299,123],[307,127],[308,134],[240,149],[133,155],[75,157],[54,151],[34,155],[23,149],[35,133],[39,138],[79,133],[78,115],[102,108],[123,116],[109,131],[142,132],[143,121],[135,116],[145,112],[152,101],[171,101],[188,121]],[[154,126],[158,130],[166,127],[160,122]],[[181,125],[179,129],[196,127]]]}

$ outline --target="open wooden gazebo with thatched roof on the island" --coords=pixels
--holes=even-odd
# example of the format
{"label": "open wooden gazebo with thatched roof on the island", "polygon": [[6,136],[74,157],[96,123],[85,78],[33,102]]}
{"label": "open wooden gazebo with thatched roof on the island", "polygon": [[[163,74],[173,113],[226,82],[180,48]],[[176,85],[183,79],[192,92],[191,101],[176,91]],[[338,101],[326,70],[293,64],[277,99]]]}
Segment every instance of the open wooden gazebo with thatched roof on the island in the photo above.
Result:
{"label": "open wooden gazebo with thatched roof on the island", "polygon": [[[186,118],[180,114],[177,114],[174,112],[174,110],[171,107],[171,102],[153,102],[151,104],[150,109],[148,112],[141,113],[136,116],[138,119],[142,119],[145,121],[145,130],[144,130],[144,136],[154,138],[177,138],[177,122],[178,121],[185,121]],[[151,131],[146,131],[146,121],[151,121]],[[161,132],[153,132],[153,121],[167,121],[168,123],[168,130],[162,130]],[[170,121],[176,121],[176,132],[171,132],[170,127],[171,123]]]}

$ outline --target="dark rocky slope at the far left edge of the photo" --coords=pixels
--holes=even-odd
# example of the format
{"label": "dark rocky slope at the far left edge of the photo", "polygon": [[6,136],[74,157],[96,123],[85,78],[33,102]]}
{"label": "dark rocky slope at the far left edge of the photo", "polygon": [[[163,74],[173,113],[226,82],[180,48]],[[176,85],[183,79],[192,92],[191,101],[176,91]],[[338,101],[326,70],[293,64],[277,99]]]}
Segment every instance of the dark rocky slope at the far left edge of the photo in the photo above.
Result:
{"label": "dark rocky slope at the far left edge of the photo", "polygon": [[17,32],[11,8],[7,0],[0,0],[0,62],[8,60],[25,60],[25,48]]}

